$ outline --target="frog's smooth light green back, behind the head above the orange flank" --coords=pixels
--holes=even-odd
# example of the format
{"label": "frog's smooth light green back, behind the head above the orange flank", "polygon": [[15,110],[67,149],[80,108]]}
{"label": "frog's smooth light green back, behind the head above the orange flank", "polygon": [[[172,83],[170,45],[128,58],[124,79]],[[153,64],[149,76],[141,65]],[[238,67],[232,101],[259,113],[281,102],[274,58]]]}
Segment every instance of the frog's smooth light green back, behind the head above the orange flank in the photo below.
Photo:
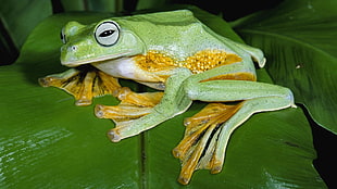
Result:
{"label": "frog's smooth light green back, behind the head above the orange flank", "polygon": [[164,52],[183,60],[204,49],[233,52],[188,10],[116,17],[123,29],[133,32],[145,43],[145,51]]}

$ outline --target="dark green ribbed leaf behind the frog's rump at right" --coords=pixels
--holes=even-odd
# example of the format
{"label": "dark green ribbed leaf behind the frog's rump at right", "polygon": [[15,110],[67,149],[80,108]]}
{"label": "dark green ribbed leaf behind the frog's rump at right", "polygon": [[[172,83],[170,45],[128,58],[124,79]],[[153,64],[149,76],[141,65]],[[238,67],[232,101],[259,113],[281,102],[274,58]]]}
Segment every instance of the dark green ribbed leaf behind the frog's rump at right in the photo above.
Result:
{"label": "dark green ribbed leaf behind the frog's rump at right", "polygon": [[337,1],[287,0],[235,23],[250,45],[264,50],[276,84],[295,92],[313,119],[337,134]]}

